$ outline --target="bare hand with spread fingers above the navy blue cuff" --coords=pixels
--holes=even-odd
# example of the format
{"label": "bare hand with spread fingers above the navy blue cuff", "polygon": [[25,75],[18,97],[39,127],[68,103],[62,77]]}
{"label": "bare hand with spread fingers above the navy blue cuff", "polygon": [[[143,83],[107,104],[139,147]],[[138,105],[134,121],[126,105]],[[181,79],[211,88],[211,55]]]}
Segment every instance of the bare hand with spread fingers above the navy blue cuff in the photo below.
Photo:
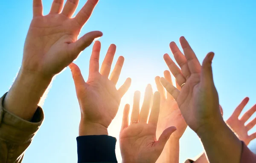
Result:
{"label": "bare hand with spread fingers above the navy blue cuff", "polygon": [[108,79],[116,45],[110,45],[99,72],[100,48],[100,42],[96,41],[90,58],[87,82],[84,82],[79,67],[74,63],[70,64],[81,110],[80,136],[91,135],[89,132],[95,127],[99,127],[101,130],[107,129],[116,116],[122,96],[131,85],[131,79],[128,78],[119,90],[116,90],[116,83],[124,63],[122,56],[118,58],[110,79]]}

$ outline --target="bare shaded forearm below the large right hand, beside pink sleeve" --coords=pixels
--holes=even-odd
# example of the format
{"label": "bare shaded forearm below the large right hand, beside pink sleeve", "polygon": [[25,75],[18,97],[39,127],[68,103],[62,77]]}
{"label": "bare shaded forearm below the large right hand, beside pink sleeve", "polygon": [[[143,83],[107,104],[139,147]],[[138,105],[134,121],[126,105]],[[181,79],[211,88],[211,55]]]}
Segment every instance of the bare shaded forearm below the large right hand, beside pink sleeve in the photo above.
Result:
{"label": "bare shaded forearm below the large right hand, beside pink sleeve", "polygon": [[241,141],[224,121],[215,121],[213,125],[198,131],[210,163],[239,163]]}

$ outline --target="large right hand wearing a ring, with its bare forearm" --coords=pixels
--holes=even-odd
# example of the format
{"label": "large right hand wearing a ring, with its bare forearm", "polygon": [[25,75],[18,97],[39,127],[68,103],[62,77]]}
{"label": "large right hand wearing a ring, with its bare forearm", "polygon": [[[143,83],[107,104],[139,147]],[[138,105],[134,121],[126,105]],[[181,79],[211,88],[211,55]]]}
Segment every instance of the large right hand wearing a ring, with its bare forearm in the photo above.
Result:
{"label": "large right hand wearing a ring, with its bare forearm", "polygon": [[208,53],[201,65],[184,37],[180,37],[180,44],[184,55],[174,42],[170,43],[180,68],[168,54],[164,55],[164,59],[182,87],[181,90],[164,78],[161,78],[160,82],[177,101],[186,124],[201,138],[209,161],[239,163],[241,142],[225,124],[219,109],[211,65],[214,53]]}

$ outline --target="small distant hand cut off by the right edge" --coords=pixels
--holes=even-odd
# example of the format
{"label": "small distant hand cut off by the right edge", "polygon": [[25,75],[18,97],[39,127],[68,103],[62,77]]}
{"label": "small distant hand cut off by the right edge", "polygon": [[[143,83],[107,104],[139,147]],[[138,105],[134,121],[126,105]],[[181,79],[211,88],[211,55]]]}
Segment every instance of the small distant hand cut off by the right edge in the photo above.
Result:
{"label": "small distant hand cut off by the right edge", "polygon": [[245,112],[240,119],[238,118],[248,101],[249,98],[244,98],[239,106],[236,107],[236,110],[233,112],[230,118],[228,118],[228,120],[226,121],[228,126],[230,126],[230,128],[233,130],[233,132],[236,133],[238,138],[241,141],[244,141],[246,145],[248,145],[250,141],[256,138],[256,132],[248,135],[248,131],[252,129],[253,126],[255,126],[256,124],[256,118],[254,118],[247,125],[245,125],[245,122],[253,115],[254,112],[256,112],[256,105],[254,105],[250,110]]}

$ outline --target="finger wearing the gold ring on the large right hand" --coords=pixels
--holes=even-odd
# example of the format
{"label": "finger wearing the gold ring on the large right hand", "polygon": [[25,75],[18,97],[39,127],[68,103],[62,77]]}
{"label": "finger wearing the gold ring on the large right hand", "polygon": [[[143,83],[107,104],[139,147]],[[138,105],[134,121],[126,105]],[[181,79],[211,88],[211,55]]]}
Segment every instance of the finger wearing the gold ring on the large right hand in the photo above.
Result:
{"label": "finger wearing the gold ring on the large right hand", "polygon": [[163,59],[165,60],[167,66],[169,67],[169,69],[171,70],[173,76],[175,77],[175,79],[177,80],[177,82],[179,83],[179,85],[183,84],[186,82],[186,78],[183,76],[181,70],[179,67],[177,67],[177,65],[173,62],[173,60],[171,59],[171,57],[168,54],[165,54],[163,56]]}

